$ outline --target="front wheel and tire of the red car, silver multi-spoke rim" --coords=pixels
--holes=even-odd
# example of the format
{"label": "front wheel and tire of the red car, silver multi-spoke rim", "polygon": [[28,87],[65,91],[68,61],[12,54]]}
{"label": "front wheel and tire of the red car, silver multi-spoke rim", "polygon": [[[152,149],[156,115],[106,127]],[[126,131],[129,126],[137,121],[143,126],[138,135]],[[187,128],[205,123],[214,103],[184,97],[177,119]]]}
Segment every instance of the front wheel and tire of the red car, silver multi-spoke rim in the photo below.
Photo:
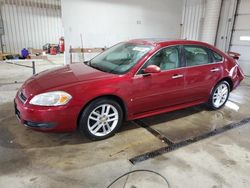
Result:
{"label": "front wheel and tire of the red car, silver multi-spoke rim", "polygon": [[83,110],[78,128],[91,140],[103,140],[113,136],[122,122],[123,111],[119,103],[109,98],[98,98]]}

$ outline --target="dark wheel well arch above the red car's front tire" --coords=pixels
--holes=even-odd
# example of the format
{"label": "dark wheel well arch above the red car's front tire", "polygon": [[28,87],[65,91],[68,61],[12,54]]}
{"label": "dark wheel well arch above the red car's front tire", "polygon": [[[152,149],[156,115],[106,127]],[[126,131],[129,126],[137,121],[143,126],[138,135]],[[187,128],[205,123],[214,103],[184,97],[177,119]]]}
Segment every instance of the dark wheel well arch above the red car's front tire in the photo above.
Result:
{"label": "dark wheel well arch above the red car's front tire", "polygon": [[116,95],[103,95],[103,96],[99,96],[99,97],[96,97],[94,99],[92,99],[91,101],[89,101],[80,111],[80,113],[78,114],[78,117],[77,117],[77,128],[79,126],[79,121],[80,121],[80,118],[81,118],[81,115],[82,115],[82,112],[84,111],[84,109],[86,108],[86,106],[88,106],[91,102],[93,102],[94,100],[96,99],[100,99],[100,98],[108,98],[108,99],[112,99],[114,101],[116,101],[122,108],[122,111],[123,111],[123,117],[124,119],[127,119],[127,107],[125,105],[125,103],[123,102],[123,100],[120,98],[120,97],[117,97]]}

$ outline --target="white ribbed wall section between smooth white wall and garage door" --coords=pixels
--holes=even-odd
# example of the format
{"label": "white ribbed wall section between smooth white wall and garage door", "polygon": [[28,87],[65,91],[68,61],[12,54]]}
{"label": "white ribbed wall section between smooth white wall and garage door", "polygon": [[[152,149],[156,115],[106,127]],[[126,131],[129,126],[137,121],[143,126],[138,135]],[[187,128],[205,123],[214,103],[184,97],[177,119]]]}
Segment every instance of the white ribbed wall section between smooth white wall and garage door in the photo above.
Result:
{"label": "white ribbed wall section between smooth white wall and garage door", "polygon": [[185,0],[182,38],[215,44],[221,0]]}

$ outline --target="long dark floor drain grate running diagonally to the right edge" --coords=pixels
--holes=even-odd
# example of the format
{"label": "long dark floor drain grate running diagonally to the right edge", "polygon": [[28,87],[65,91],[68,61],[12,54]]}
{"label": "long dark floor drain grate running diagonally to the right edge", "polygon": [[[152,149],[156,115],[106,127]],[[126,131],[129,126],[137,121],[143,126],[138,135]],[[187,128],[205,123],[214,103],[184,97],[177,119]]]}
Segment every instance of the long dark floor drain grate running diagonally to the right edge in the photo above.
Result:
{"label": "long dark floor drain grate running diagonally to the right edge", "polygon": [[174,151],[176,149],[179,149],[179,148],[187,146],[189,144],[192,144],[192,143],[198,142],[200,140],[209,138],[211,136],[215,136],[215,135],[221,134],[223,132],[226,132],[228,130],[235,129],[237,127],[243,126],[243,125],[245,125],[245,124],[247,124],[249,122],[250,122],[250,117],[244,118],[239,122],[230,123],[230,124],[228,124],[228,125],[226,125],[224,127],[215,129],[215,130],[213,130],[213,131],[211,131],[209,133],[199,135],[199,136],[197,136],[195,138],[187,139],[187,140],[184,140],[184,141],[181,141],[181,142],[178,142],[178,143],[174,143],[172,145],[168,145],[166,147],[162,147],[160,149],[157,149],[157,150],[154,150],[154,151],[151,151],[151,152],[144,153],[142,155],[138,155],[136,157],[133,157],[133,158],[129,159],[129,161],[132,164],[135,165],[136,163],[139,163],[139,162],[142,162],[142,161],[157,157],[157,156],[162,155],[164,153]]}

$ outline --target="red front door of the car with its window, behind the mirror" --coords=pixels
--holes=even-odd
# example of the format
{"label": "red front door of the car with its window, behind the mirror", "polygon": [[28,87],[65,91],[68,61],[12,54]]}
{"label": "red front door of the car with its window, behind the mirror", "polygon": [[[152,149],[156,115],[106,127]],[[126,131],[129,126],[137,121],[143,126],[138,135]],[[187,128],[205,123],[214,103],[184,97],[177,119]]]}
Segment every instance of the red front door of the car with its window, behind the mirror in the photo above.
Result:
{"label": "red front door of the car with its window, behind the mirror", "polygon": [[[183,102],[185,68],[179,46],[167,47],[153,55],[132,80],[132,106],[135,114],[159,110]],[[160,73],[145,75],[149,65],[161,68]]]}

